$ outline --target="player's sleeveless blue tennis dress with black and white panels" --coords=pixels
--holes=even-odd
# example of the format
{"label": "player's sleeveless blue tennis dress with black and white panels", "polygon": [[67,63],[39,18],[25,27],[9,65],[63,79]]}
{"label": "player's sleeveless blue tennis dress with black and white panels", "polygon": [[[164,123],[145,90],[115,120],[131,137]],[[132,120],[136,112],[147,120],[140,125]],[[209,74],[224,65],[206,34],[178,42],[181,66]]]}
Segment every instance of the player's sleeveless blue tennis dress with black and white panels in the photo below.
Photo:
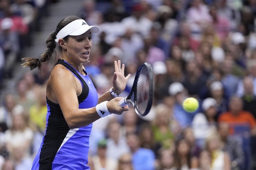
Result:
{"label": "player's sleeveless blue tennis dress with black and white panels", "polygon": [[[64,65],[80,81],[82,92],[78,98],[79,109],[95,107],[98,101],[96,89],[85,72],[83,76],[63,60]],[[70,129],[58,104],[46,98],[46,130],[31,170],[89,170],[89,136],[92,124]]]}

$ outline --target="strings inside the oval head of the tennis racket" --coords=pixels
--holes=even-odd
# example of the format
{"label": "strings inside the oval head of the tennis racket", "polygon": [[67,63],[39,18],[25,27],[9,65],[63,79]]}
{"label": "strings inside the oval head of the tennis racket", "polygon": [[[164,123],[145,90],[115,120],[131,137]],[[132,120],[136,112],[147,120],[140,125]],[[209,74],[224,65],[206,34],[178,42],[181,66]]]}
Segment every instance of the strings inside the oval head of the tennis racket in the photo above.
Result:
{"label": "strings inside the oval head of the tennis racket", "polygon": [[136,109],[140,114],[145,112],[149,101],[150,84],[148,76],[148,69],[143,67],[139,74],[137,88],[134,94],[136,97]]}

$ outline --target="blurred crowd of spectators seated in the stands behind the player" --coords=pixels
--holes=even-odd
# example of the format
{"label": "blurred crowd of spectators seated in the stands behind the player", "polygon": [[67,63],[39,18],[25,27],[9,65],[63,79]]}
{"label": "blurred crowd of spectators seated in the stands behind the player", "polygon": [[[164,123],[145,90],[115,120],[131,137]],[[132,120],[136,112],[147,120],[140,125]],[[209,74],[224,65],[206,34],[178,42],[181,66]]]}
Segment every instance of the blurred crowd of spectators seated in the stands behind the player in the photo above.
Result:
{"label": "blurred crowd of spectators seated in the stands behind the player", "polygon": [[[0,80],[13,77],[51,3],[0,0]],[[100,28],[84,65],[99,95],[112,86],[114,60],[132,75],[123,97],[139,64],[154,72],[148,115],[129,106],[93,123],[91,170],[256,170],[256,0],[84,0],[76,13]],[[0,170],[30,169],[51,68],[25,72],[3,95]],[[195,112],[182,109],[187,97],[199,101]]]}

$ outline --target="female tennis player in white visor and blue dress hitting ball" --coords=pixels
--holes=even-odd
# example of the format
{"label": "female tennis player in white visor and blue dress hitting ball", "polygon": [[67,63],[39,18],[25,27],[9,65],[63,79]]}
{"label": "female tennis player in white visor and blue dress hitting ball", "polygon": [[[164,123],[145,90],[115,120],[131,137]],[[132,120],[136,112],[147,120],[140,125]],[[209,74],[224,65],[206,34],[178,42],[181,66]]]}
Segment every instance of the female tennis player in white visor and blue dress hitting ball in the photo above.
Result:
{"label": "female tennis player in white visor and blue dress hitting ball", "polygon": [[40,58],[23,58],[23,67],[41,68],[53,59],[56,44],[61,58],[53,67],[46,87],[46,131],[32,170],[89,170],[87,166],[92,123],[111,113],[121,114],[118,95],[124,90],[128,74],[124,64],[114,61],[113,87],[98,97],[83,63],[89,59],[91,33],[99,32],[77,16],[62,19],[47,40]]}

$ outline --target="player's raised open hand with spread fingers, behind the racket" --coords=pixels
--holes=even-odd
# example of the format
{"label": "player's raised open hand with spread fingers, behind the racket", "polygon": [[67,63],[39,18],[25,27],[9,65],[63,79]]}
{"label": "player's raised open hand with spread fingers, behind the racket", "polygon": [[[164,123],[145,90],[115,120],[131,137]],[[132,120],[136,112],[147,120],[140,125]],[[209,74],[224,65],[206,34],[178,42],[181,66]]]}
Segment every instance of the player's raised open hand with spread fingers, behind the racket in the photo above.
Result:
{"label": "player's raised open hand with spread fingers, behind the racket", "polygon": [[124,64],[121,64],[121,61],[114,61],[114,75],[113,75],[113,88],[118,91],[122,92],[125,89],[127,84],[127,80],[130,77],[128,74],[126,77],[124,76]]}

